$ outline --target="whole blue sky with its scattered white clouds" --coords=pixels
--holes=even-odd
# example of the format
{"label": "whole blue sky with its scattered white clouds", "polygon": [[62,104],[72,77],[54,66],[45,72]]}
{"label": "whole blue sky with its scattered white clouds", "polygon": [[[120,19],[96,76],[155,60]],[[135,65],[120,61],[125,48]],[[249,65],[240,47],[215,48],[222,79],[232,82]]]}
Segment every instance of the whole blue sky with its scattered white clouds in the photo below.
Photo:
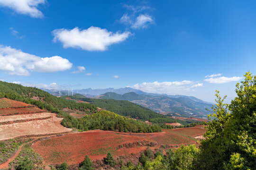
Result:
{"label": "whole blue sky with its scattered white clouds", "polygon": [[213,102],[256,72],[253,0],[108,2],[0,0],[0,79]]}

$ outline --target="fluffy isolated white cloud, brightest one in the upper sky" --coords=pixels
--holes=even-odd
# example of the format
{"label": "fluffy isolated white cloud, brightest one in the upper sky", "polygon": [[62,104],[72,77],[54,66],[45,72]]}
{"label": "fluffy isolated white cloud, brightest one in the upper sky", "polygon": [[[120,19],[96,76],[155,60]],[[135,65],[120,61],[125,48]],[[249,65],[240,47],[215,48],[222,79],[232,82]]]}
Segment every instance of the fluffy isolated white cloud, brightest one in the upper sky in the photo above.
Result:
{"label": "fluffy isolated white cloud, brightest one in the upper sky", "polygon": [[78,27],[72,30],[55,29],[53,32],[54,42],[60,41],[64,48],[81,48],[87,51],[105,51],[108,46],[125,41],[130,32],[112,33],[107,29],[91,26],[80,30]]}

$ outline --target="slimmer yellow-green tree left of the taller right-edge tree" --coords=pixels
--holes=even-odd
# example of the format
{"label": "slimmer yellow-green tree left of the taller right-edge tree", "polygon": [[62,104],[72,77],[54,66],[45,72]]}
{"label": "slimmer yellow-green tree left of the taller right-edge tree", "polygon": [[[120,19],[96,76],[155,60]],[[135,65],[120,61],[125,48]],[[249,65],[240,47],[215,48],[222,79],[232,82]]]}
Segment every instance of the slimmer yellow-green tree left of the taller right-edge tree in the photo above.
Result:
{"label": "slimmer yellow-green tree left of the taller right-edge tree", "polygon": [[218,150],[223,143],[224,128],[227,126],[232,114],[229,111],[229,104],[224,103],[227,96],[221,98],[218,90],[216,90],[215,96],[216,104],[211,107],[212,110],[209,110],[212,113],[208,115],[210,122],[204,134],[206,140],[201,141],[201,153],[198,155],[196,169],[223,169],[223,161]]}

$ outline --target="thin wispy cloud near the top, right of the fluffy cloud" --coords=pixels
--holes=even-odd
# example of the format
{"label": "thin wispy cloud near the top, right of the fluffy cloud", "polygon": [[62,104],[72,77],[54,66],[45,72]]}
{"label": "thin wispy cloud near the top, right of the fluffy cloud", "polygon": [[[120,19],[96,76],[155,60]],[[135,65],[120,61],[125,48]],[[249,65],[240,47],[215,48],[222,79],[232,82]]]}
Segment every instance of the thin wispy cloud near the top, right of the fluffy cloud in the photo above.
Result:
{"label": "thin wispy cloud near the top, right of the fluffy cloud", "polygon": [[132,6],[132,5],[124,5],[125,8],[131,10],[131,12],[125,13],[121,18],[120,22],[129,25],[133,29],[146,28],[148,25],[154,23],[154,19],[152,16],[148,14],[142,14],[141,12],[145,10],[152,9],[147,6]]}

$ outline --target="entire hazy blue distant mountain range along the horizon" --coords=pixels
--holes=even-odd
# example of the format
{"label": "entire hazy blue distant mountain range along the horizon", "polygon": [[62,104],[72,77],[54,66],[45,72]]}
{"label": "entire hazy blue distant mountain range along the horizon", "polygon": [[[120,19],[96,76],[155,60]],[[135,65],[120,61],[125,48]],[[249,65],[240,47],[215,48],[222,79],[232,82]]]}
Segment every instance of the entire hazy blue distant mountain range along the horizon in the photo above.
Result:
{"label": "entire hazy blue distant mountain range along the horizon", "polygon": [[[55,96],[59,95],[59,91],[57,90],[42,90]],[[146,93],[130,87],[119,89],[87,88],[82,90],[73,90],[73,93],[80,93],[88,98],[94,99],[126,100],[161,114],[171,114],[173,116],[180,117],[206,118],[209,112],[205,110],[205,108],[210,109],[212,106],[212,103],[202,101],[193,96]],[[67,95],[68,90],[61,90],[61,94]]]}

